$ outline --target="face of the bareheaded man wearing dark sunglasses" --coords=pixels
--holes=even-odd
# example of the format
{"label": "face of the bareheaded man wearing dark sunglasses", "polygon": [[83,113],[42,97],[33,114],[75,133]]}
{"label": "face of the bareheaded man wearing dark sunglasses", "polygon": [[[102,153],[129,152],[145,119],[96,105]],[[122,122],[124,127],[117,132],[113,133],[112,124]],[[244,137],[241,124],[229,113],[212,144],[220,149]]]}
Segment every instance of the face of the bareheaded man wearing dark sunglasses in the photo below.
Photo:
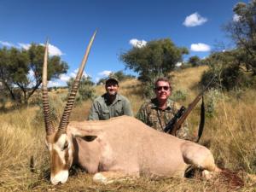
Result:
{"label": "face of the bareheaded man wearing dark sunglasses", "polygon": [[166,81],[159,81],[154,90],[155,96],[158,100],[166,100],[171,95],[170,84]]}

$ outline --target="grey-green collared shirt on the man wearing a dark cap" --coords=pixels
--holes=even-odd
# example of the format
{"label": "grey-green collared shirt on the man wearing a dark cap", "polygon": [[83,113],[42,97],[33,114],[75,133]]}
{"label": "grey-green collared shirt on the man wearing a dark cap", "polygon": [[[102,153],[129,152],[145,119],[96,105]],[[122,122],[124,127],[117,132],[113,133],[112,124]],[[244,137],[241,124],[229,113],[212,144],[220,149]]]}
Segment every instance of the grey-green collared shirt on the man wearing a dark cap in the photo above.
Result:
{"label": "grey-green collared shirt on the man wearing a dark cap", "polygon": [[121,115],[133,116],[131,104],[125,96],[116,95],[114,101],[108,104],[108,96],[105,93],[98,96],[90,108],[89,120],[107,120]]}

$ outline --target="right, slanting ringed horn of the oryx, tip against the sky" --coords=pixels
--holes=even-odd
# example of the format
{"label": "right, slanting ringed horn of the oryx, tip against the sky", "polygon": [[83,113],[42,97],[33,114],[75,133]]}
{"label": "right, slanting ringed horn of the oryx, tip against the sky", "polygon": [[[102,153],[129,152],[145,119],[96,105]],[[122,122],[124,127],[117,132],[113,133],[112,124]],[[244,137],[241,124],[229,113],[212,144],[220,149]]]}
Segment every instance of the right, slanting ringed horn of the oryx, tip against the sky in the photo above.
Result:
{"label": "right, slanting ringed horn of the oryx, tip against the sky", "polygon": [[79,72],[77,73],[77,77],[73,82],[72,89],[71,89],[70,94],[69,94],[68,99],[67,99],[66,107],[65,107],[64,112],[63,112],[62,117],[61,117],[61,122],[60,122],[59,129],[58,129],[58,131],[60,133],[65,133],[66,130],[67,130],[67,125],[68,125],[68,122],[69,122],[69,116],[70,116],[70,113],[71,113],[72,108],[73,108],[73,103],[74,103],[74,100],[75,100],[75,96],[76,96],[77,91],[79,89],[79,82],[80,82],[80,79],[83,75],[85,63],[88,59],[88,55],[90,53],[90,48],[91,48],[91,45],[94,41],[95,36],[96,36],[96,32],[94,32],[93,36],[90,38],[90,43],[89,43],[89,45],[88,45],[88,47],[85,51],[83,61],[82,61],[81,65],[80,65],[80,68],[79,68]]}

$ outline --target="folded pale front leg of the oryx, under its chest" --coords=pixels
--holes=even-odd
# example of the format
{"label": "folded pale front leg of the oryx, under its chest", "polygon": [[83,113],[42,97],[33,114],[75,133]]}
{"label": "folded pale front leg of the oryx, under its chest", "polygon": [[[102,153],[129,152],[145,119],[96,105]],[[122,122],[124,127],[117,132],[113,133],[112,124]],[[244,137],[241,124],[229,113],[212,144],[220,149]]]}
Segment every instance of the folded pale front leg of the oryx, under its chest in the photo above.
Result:
{"label": "folded pale front leg of the oryx, under its chest", "polygon": [[126,179],[139,177],[137,173],[125,173],[125,172],[97,172],[94,177],[93,181],[97,183],[113,183],[124,181]]}

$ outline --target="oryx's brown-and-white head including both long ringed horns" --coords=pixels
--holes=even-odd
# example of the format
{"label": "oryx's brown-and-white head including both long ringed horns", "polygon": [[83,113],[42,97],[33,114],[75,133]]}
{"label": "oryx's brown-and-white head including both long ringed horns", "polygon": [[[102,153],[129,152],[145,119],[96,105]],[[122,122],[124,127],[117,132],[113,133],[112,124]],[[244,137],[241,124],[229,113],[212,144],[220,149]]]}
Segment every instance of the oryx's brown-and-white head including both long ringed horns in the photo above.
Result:
{"label": "oryx's brown-and-white head including both long ringed horns", "polygon": [[43,106],[44,106],[44,123],[46,131],[46,143],[49,148],[50,155],[50,181],[53,184],[67,182],[68,169],[73,163],[73,143],[72,137],[67,135],[67,125],[69,122],[69,116],[73,108],[73,103],[77,90],[79,89],[79,81],[82,77],[84,66],[87,61],[90,47],[96,36],[96,32],[90,38],[90,44],[88,45],[83,61],[80,65],[77,77],[73,82],[72,90],[67,99],[67,105],[61,117],[61,122],[58,130],[55,131],[52,125],[50,114],[49,114],[49,98],[47,91],[47,58],[48,58],[48,42],[45,45],[44,53],[44,67],[43,67],[43,83],[42,83],[42,94],[43,94]]}

